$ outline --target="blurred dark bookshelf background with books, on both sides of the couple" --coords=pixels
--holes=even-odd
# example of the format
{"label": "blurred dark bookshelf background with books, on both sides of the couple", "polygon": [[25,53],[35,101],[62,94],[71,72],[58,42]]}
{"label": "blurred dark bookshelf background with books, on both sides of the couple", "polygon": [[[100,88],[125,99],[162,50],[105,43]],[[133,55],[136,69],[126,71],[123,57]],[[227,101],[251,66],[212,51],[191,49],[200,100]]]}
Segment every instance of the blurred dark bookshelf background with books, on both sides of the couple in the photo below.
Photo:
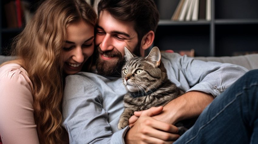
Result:
{"label": "blurred dark bookshelf background with books, on both sides of the couple", "polygon": [[[86,0],[93,6],[99,0]],[[257,0],[154,0],[160,21],[153,46],[188,56],[258,53]],[[37,0],[2,0],[0,54],[24,28]]]}

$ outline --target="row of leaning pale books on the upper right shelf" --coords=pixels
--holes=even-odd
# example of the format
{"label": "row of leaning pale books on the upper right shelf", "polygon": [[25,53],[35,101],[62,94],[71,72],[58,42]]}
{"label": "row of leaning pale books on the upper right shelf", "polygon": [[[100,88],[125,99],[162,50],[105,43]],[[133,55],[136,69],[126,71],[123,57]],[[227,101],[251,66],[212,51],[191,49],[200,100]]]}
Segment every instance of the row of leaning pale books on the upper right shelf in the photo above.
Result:
{"label": "row of leaning pale books on the upper right shelf", "polygon": [[172,21],[211,20],[211,0],[180,0]]}

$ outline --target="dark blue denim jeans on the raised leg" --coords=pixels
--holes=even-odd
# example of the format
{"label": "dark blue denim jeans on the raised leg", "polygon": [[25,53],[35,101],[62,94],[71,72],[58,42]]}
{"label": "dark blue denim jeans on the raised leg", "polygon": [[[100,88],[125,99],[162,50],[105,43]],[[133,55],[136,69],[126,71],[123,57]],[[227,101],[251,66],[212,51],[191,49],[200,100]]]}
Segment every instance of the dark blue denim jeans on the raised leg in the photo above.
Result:
{"label": "dark blue denim jeans on the raised leg", "polygon": [[217,96],[178,143],[258,144],[258,69]]}

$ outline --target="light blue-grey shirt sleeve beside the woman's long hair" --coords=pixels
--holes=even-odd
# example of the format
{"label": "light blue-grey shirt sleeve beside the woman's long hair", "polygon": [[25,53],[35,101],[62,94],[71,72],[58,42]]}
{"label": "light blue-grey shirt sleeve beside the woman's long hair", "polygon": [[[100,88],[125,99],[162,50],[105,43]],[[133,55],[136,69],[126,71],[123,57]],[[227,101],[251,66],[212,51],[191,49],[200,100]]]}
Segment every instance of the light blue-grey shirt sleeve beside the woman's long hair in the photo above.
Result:
{"label": "light blue-grey shirt sleeve beside the woman's long hair", "polygon": [[102,94],[86,76],[69,75],[63,95],[63,126],[70,143],[124,143],[126,128],[113,133]]}

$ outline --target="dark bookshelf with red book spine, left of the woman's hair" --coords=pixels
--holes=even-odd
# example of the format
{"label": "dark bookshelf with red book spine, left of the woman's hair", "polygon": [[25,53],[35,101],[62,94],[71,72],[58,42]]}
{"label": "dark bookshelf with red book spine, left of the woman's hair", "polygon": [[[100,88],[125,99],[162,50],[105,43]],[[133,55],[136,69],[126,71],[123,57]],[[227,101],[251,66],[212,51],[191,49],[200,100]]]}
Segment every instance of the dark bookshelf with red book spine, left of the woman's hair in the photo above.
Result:
{"label": "dark bookshelf with red book spine, left of the woman's hair", "polygon": [[[0,54],[7,55],[10,50],[12,38],[19,34],[25,25],[25,8],[33,11],[33,0],[5,0],[0,3],[1,27],[0,27]],[[19,16],[17,16],[19,15]],[[27,15],[26,15],[27,16]],[[10,25],[11,24],[11,25]]]}

